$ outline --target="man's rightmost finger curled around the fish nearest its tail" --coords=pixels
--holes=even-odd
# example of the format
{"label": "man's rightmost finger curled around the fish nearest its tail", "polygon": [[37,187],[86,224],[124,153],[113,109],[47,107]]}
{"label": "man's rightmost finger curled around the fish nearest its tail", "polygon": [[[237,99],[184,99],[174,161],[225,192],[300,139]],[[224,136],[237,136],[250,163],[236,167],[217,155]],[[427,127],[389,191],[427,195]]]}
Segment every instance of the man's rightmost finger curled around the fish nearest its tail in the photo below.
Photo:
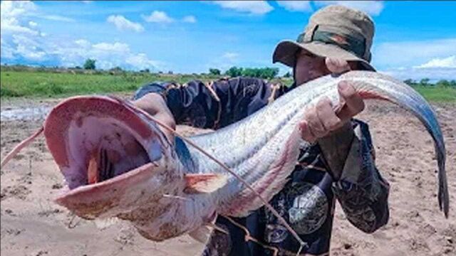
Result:
{"label": "man's rightmost finger curled around the fish nearest its tail", "polygon": [[341,104],[344,104],[341,112],[338,113],[339,118],[343,120],[350,119],[364,110],[363,98],[348,82],[339,82],[338,92],[341,97]]}

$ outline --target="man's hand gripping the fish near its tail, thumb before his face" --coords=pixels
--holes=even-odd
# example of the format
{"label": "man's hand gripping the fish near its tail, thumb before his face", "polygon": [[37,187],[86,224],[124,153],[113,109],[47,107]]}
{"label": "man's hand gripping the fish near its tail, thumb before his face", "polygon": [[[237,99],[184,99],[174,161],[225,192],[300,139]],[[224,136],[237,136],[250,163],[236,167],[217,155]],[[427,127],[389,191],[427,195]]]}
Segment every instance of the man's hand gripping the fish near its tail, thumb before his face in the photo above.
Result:
{"label": "man's hand gripping the fish near its tail, thumb before his face", "polygon": [[[344,73],[351,70],[346,60],[326,58],[326,68],[333,74]],[[349,82],[341,81],[338,84],[339,105],[333,107],[331,101],[325,97],[317,102],[314,107],[304,114],[304,119],[299,123],[301,137],[306,142],[316,142],[317,139],[341,129],[345,124],[364,109],[364,102],[358,92]]]}

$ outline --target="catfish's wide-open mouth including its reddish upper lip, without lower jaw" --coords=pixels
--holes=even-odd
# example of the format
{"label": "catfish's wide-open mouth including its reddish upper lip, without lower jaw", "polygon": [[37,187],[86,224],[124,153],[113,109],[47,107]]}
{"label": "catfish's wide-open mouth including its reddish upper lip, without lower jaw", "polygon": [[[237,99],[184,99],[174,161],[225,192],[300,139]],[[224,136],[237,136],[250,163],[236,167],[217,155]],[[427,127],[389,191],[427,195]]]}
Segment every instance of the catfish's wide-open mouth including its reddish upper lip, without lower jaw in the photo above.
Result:
{"label": "catfish's wide-open mouth including its reddish upper lip, without lower jaw", "polygon": [[125,102],[73,97],[49,114],[44,134],[68,188],[74,190],[104,183],[160,159],[160,143],[152,129]]}

